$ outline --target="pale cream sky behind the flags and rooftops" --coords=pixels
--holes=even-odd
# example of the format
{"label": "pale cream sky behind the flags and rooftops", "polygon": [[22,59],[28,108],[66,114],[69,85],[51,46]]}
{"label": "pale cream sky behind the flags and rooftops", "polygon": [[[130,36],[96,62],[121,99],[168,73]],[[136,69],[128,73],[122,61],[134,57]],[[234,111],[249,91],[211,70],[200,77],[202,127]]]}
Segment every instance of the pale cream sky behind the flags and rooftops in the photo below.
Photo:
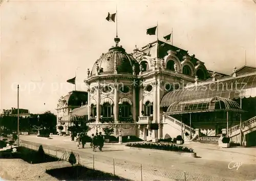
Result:
{"label": "pale cream sky behind the flags and rooftops", "polygon": [[[1,16],[0,109],[56,113],[57,101],[86,90],[87,69],[114,46],[116,24],[106,21],[117,7],[118,36],[127,53],[156,40],[146,29],[158,23],[159,39],[230,74],[234,66],[256,66],[256,4],[253,1],[32,1],[3,2]],[[245,53],[246,52],[246,53]],[[1,111],[1,110],[0,110]]]}

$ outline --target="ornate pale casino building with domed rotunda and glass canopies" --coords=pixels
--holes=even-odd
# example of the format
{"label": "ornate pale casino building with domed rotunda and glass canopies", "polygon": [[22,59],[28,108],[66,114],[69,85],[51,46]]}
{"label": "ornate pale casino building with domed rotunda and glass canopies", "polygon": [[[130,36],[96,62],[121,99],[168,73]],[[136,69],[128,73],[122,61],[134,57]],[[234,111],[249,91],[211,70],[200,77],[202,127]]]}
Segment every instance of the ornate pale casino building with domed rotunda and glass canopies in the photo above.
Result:
{"label": "ornate pale casino building with domed rotunda and glass canopies", "polygon": [[87,70],[88,89],[59,100],[57,125],[67,131],[72,122],[88,121],[89,135],[109,127],[116,136],[153,142],[182,135],[187,142],[215,143],[226,133],[233,142],[256,145],[255,67],[227,75],[160,40],[133,53],[114,40]]}

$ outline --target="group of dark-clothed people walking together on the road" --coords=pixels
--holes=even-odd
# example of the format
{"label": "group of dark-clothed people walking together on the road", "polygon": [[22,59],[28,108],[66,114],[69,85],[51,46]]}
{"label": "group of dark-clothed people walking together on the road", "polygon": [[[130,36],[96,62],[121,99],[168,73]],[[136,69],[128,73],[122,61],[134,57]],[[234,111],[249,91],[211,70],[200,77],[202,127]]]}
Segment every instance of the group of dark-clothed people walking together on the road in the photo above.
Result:
{"label": "group of dark-clothed people walking together on the road", "polygon": [[[102,151],[103,145],[104,145],[104,136],[101,132],[96,134],[92,134],[91,137],[91,148],[93,148],[93,151],[96,151],[96,148],[99,148],[100,151]],[[77,133],[76,136],[76,142],[77,142],[77,148],[79,149],[80,142],[82,142],[82,148],[84,148],[84,145],[86,144],[86,134],[84,132]]]}

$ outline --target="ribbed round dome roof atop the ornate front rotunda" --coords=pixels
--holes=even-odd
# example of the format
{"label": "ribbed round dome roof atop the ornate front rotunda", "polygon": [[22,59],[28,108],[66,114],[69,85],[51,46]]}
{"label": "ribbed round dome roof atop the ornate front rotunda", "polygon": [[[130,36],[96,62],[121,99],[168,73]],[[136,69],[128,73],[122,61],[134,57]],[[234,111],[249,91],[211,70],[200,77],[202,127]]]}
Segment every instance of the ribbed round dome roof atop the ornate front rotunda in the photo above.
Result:
{"label": "ribbed round dome roof atop the ornate front rotunda", "polygon": [[97,72],[111,74],[115,73],[115,69],[118,74],[133,74],[133,65],[136,74],[138,74],[140,70],[137,60],[132,55],[127,54],[122,46],[116,46],[110,48],[108,53],[100,56],[93,65],[91,75],[95,75]]}

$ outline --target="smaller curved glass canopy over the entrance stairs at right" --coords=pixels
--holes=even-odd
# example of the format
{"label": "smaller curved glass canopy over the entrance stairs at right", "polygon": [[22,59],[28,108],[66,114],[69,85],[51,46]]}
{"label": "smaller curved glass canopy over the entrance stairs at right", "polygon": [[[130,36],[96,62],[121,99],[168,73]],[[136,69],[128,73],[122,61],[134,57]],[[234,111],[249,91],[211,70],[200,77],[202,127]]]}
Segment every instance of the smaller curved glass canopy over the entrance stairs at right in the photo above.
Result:
{"label": "smaller curved glass canopy over the entrance stairs at right", "polygon": [[237,102],[222,97],[181,101],[171,104],[166,113],[170,115],[208,111],[242,111]]}

